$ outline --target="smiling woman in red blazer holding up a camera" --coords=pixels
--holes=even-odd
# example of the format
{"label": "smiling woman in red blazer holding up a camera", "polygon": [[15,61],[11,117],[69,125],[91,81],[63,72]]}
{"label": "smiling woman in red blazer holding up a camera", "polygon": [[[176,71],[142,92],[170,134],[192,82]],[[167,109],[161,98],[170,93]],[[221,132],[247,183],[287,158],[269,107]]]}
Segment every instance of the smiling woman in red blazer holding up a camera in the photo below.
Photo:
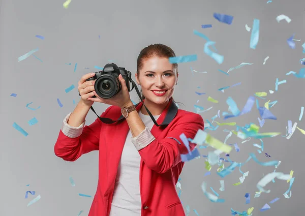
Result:
{"label": "smiling woman in red blazer holding up a camera", "polygon": [[[168,58],[174,56],[173,50],[162,44],[145,47],[135,74],[145,106],[157,124],[166,127],[154,125],[142,102],[133,105],[121,75],[121,90],[110,99],[99,98],[94,81],[85,81],[94,74],[80,79],[81,100],[64,119],[54,151],[65,161],[75,161],[84,153],[99,150],[99,181],[89,216],[185,215],[175,189],[184,166],[180,154],[188,153],[179,136],[184,133],[194,139],[204,124],[199,114],[178,110],[172,99],[178,72],[177,64],[170,64]],[[97,97],[92,98],[94,95]],[[101,117],[125,118],[115,124],[97,118],[84,126],[94,102],[112,105]]]}

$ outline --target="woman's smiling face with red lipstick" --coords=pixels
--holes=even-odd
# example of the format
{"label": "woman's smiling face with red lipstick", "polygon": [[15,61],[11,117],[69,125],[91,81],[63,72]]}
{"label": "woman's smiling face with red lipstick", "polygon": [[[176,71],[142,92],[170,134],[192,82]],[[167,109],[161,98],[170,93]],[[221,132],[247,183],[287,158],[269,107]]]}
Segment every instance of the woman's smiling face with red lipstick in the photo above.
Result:
{"label": "woman's smiling face with red lipstick", "polygon": [[172,97],[178,79],[168,58],[158,56],[144,59],[139,75],[135,76],[145,100],[155,104],[164,104]]}

